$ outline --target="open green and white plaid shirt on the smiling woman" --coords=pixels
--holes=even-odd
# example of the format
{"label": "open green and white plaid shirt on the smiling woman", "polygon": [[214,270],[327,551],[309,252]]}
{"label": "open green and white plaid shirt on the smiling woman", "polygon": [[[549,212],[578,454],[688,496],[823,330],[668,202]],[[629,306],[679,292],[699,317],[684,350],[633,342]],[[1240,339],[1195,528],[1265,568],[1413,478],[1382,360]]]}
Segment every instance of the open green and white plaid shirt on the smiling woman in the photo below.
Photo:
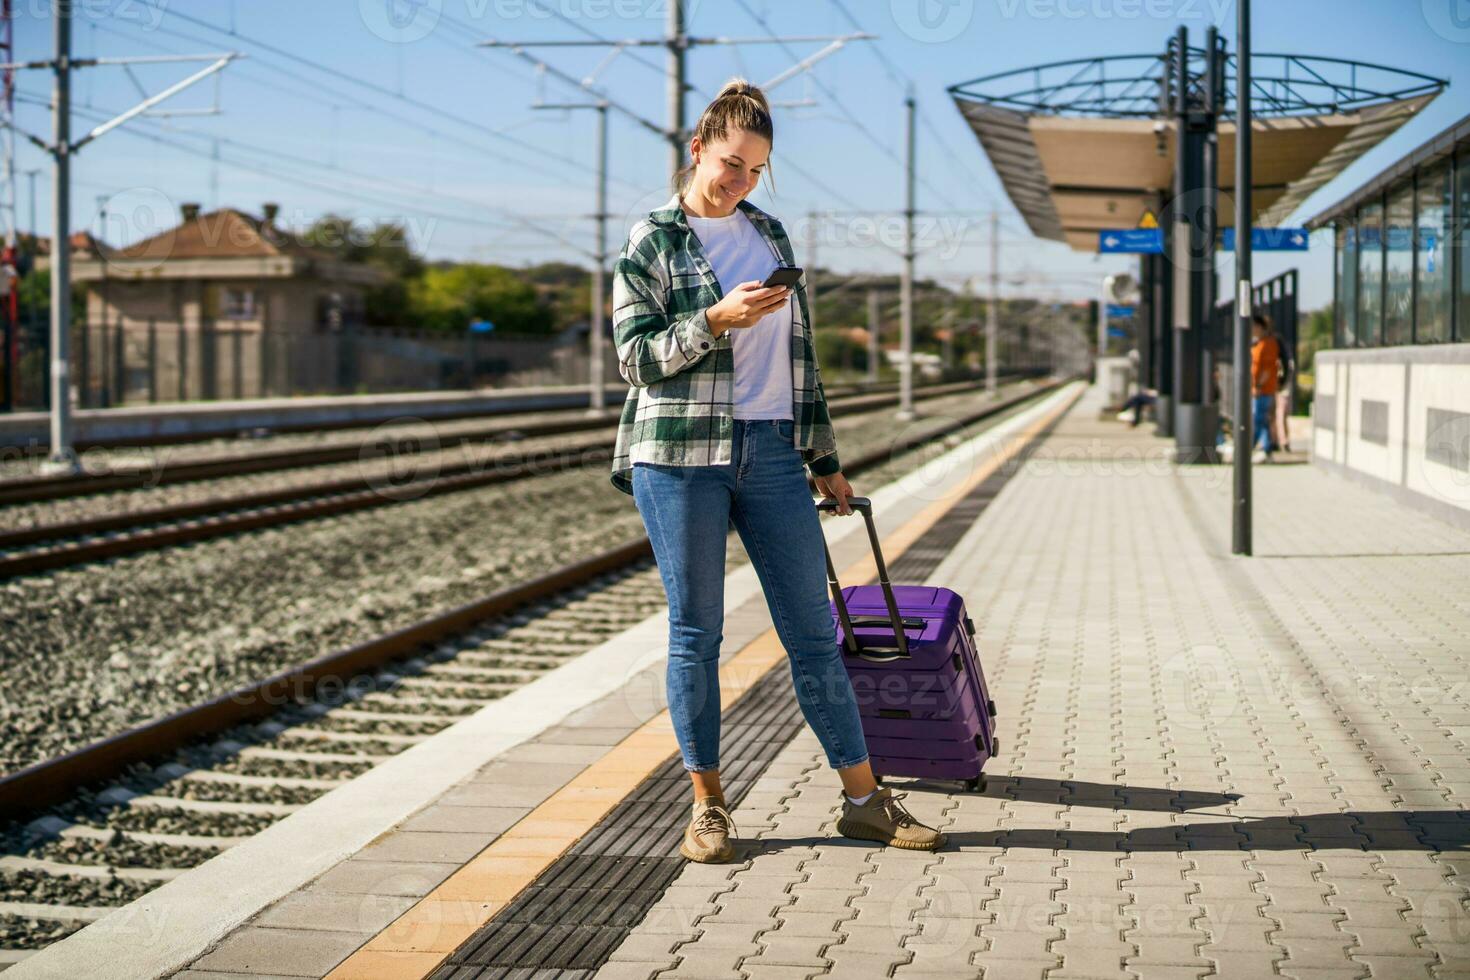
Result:
{"label": "open green and white plaid shirt on the smiling woman", "polygon": [[[736,204],[785,266],[794,266],[781,222]],[[719,466],[732,460],[735,353],[731,335],[710,334],[704,311],[723,297],[689,228],[679,195],[634,225],[613,266],[613,344],[628,400],[617,423],[613,486],[632,494],[634,463]],[[807,279],[797,284],[791,323],[791,411],[795,444],[814,476],[841,469],[811,329]]]}

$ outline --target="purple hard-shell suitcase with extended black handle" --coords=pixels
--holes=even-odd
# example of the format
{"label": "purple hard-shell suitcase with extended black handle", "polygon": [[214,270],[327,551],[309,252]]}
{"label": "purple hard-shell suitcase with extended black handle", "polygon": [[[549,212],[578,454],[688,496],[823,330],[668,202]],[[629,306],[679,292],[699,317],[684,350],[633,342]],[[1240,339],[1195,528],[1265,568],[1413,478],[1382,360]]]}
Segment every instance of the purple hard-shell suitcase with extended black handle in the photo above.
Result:
{"label": "purple hard-shell suitcase with extended black handle", "polygon": [[[828,585],[873,773],[958,779],[983,790],[980,770],[995,755],[995,702],[964,599],[944,588],[891,585],[872,502],[853,497],[848,504],[867,523],[879,583],[844,589],[829,552]],[[836,502],[817,507],[833,510]]]}

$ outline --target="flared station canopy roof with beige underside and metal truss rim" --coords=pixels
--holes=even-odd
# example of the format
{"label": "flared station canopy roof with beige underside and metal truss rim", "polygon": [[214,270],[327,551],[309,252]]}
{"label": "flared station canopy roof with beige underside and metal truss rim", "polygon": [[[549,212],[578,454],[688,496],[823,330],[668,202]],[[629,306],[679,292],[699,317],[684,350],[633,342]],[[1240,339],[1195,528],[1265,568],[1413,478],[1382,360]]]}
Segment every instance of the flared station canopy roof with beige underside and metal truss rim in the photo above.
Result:
{"label": "flared station canopy roof with beige underside and metal truss rim", "polygon": [[[1167,56],[1058,62],[950,87],[1032,234],[1095,251],[1173,197],[1175,120],[1160,113]],[[1191,48],[1191,84],[1204,51]],[[1233,56],[1226,91],[1233,93]],[[1317,188],[1408,122],[1445,82],[1376,65],[1295,54],[1251,59],[1251,210],[1286,220]],[[1198,69],[1198,71],[1197,71]],[[1235,195],[1233,98],[1220,113],[1219,190]],[[1222,203],[1222,228],[1235,220]]]}

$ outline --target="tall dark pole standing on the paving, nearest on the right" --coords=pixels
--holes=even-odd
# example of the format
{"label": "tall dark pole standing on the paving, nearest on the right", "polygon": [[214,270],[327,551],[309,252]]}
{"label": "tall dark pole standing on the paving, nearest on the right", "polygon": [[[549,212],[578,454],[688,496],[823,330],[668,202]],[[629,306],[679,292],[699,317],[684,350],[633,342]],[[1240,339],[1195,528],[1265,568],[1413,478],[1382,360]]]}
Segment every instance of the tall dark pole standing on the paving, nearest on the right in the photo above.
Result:
{"label": "tall dark pole standing on the paving, nearest on the right", "polygon": [[1251,554],[1251,0],[1235,25],[1235,476],[1232,547]]}

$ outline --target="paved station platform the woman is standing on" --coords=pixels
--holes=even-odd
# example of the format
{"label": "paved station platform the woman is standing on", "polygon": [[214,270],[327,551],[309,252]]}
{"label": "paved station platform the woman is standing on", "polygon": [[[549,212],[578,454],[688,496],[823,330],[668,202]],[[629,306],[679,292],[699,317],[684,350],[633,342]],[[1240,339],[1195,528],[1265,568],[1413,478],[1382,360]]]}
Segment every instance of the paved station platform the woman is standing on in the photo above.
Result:
{"label": "paved station platform the woman is standing on", "polygon": [[[1470,977],[1470,533],[1305,464],[1179,467],[1069,386],[875,501],[958,591],[980,793],[836,835],[759,583],[726,580],[736,861],[678,857],[662,613],[21,962],[16,977]],[[857,519],[825,522],[844,583]]]}

